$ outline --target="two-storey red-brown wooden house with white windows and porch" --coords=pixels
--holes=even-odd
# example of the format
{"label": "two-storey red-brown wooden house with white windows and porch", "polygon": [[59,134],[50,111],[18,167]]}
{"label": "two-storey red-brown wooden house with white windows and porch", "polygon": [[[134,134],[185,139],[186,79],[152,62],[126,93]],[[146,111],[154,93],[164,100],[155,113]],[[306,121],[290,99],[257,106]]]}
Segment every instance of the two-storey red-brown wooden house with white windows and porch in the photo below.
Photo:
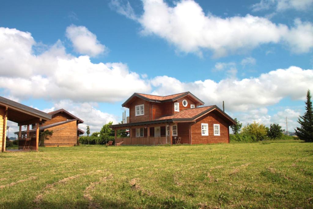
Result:
{"label": "two-storey red-brown wooden house with white windows and porch", "polygon": [[[181,144],[229,143],[229,126],[236,122],[216,105],[204,105],[192,93],[168,96],[134,93],[122,104],[129,122],[111,125],[115,143]],[[117,129],[130,129],[130,137],[117,138]]]}

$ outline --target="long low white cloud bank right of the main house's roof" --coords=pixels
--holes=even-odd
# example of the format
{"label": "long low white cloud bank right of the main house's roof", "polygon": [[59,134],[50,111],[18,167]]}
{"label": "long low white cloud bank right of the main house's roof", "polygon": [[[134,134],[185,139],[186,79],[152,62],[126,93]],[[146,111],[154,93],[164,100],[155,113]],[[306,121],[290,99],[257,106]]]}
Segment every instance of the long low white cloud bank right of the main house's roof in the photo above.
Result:
{"label": "long low white cloud bank right of the main house's roof", "polygon": [[156,88],[152,92],[156,95],[191,91],[207,105],[221,105],[225,101],[228,111],[243,112],[277,104],[285,97],[304,99],[307,89],[313,89],[312,80],[313,70],[291,66],[242,80],[181,82],[172,77],[157,76],[151,84]]}

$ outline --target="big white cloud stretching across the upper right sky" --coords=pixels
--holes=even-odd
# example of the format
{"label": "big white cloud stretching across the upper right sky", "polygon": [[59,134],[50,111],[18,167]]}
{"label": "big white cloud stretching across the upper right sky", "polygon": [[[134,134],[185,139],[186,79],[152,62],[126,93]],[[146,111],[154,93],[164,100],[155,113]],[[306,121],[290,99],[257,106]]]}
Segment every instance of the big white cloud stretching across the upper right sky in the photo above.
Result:
{"label": "big white cloud stretching across the upper right sky", "polygon": [[[185,53],[201,55],[203,50],[211,50],[215,57],[220,57],[269,43],[285,43],[296,53],[308,52],[313,47],[312,23],[299,22],[289,28],[250,14],[220,18],[205,14],[193,0],[177,1],[173,7],[163,0],[144,0],[143,10],[137,20],[142,26],[141,33],[155,34]],[[290,33],[294,30],[297,32]],[[308,39],[306,47],[302,42],[293,42],[297,39]]]}

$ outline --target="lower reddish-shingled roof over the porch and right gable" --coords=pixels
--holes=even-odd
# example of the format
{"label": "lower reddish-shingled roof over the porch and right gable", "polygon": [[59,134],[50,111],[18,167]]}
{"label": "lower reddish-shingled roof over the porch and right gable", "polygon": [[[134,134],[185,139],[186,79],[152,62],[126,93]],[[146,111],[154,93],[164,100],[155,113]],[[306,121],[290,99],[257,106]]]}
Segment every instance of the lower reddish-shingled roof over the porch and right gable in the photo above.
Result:
{"label": "lower reddish-shingled roof over the porch and right gable", "polygon": [[139,126],[146,124],[155,124],[155,123],[176,123],[176,122],[195,122],[198,118],[203,115],[212,112],[213,110],[221,113],[225,118],[227,118],[231,123],[236,124],[236,121],[231,118],[228,114],[223,112],[216,105],[206,106],[206,107],[196,107],[191,109],[184,109],[175,115],[162,116],[153,121],[144,121],[144,122],[135,122],[135,123],[124,123],[124,124],[116,124],[111,125],[110,128],[119,128],[119,127],[129,127],[129,126]]}

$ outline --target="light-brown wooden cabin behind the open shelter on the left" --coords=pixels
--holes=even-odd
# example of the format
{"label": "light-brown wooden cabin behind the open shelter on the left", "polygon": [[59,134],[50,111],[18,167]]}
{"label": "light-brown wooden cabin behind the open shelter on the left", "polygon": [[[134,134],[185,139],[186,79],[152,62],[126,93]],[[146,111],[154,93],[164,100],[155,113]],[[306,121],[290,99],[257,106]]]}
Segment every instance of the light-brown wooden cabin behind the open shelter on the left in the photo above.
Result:
{"label": "light-brown wooden cabin behind the open shelter on the left", "polygon": [[[52,136],[48,136],[44,140],[45,147],[69,147],[77,145],[79,135],[84,131],[78,128],[78,124],[84,123],[80,118],[72,115],[64,109],[49,112],[51,120],[41,124],[39,131],[53,131]],[[30,130],[30,134],[34,134],[35,129]],[[23,131],[22,135],[26,132]]]}

